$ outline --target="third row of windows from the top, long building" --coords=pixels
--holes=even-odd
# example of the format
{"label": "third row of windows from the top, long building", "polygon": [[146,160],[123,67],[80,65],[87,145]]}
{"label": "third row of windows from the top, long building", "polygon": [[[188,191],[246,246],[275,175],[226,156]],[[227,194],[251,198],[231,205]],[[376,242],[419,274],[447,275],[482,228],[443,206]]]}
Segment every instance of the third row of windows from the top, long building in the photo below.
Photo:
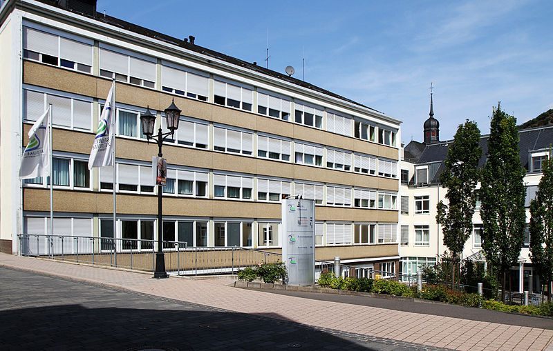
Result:
{"label": "third row of windows from the top, long building", "polygon": [[[156,174],[153,174],[151,166],[116,163],[116,177],[118,192],[134,192],[140,194],[153,194]],[[155,170],[155,168],[154,168]],[[53,185],[72,189],[82,188],[90,190],[91,171],[88,170],[88,162],[84,159],[53,158],[52,170]],[[278,179],[263,179],[256,177],[257,201],[280,201],[285,196],[290,196],[292,181]],[[50,177],[37,177],[26,179],[26,185],[48,186]],[[172,194],[184,197],[207,198],[209,184],[209,171],[189,170],[182,168],[167,169],[167,181],[162,187],[164,194]],[[254,200],[254,177],[238,174],[213,174],[213,198]],[[324,200],[324,185],[321,183],[303,183],[294,181],[294,192],[300,194],[303,199],[315,200],[322,205]],[[113,190],[113,170],[100,168],[100,189]],[[353,207],[373,208],[384,210],[397,209],[397,194],[371,189],[351,188],[339,185],[326,185],[326,205],[351,207],[353,195]]]}

